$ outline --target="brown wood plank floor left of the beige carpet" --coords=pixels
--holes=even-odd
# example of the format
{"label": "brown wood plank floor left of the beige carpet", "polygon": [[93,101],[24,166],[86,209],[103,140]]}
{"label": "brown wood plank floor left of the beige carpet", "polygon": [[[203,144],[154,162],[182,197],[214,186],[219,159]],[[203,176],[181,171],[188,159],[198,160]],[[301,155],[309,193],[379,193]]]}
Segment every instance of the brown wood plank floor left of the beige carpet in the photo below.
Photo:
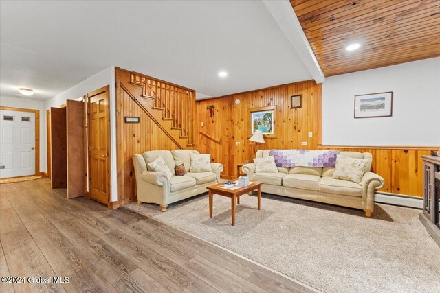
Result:
{"label": "brown wood plank floor left of the beige carpet", "polygon": [[0,292],[316,292],[217,246],[126,209],[50,189],[0,185]]}

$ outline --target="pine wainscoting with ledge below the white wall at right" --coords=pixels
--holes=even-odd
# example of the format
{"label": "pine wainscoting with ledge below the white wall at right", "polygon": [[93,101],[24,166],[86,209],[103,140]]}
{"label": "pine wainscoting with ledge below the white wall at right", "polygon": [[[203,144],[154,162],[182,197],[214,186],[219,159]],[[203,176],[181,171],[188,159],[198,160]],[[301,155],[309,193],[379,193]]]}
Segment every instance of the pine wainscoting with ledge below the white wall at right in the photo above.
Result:
{"label": "pine wainscoting with ledge below the white wall at right", "polygon": [[373,172],[385,180],[383,192],[423,196],[423,160],[430,150],[438,147],[368,147],[318,145],[319,150],[342,150],[353,152],[371,152],[373,154]]}

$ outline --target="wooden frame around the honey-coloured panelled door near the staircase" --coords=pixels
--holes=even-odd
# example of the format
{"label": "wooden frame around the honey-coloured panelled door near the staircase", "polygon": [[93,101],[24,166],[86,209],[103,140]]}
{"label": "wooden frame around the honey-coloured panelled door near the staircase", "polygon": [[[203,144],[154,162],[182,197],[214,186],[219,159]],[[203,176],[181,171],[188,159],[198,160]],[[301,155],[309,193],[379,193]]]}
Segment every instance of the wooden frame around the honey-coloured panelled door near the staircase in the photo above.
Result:
{"label": "wooden frame around the honey-coloured panelled door near the staircase", "polygon": [[[100,93],[106,93],[107,95],[107,113],[108,113],[108,117],[107,117],[107,154],[111,154],[111,143],[110,143],[110,134],[111,134],[111,129],[110,129],[110,86],[102,86],[102,88],[97,89],[95,91],[91,91],[90,93],[87,93],[87,95],[85,95],[85,99],[87,101],[87,159],[88,159],[88,163],[87,163],[87,189],[88,189],[88,197],[91,198],[91,191],[90,191],[90,180],[91,180],[91,172],[90,172],[90,167],[91,167],[91,155],[90,155],[90,151],[89,151],[89,147],[90,145],[90,131],[91,131],[91,127],[89,127],[90,121],[91,121],[91,111],[90,111],[90,98],[94,97],[95,95],[99,95]],[[107,184],[108,184],[108,191],[109,194],[107,196],[107,207],[111,208],[111,156],[109,156],[109,162],[107,162]]]}

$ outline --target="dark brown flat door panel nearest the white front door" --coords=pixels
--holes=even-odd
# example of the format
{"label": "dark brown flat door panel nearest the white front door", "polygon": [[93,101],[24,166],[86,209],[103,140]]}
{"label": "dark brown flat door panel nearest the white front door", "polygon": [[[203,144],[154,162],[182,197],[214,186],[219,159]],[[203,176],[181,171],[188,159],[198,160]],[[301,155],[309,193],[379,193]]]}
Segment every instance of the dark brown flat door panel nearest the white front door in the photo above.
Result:
{"label": "dark brown flat door panel nearest the white front door", "polygon": [[50,108],[52,188],[67,187],[66,108]]}

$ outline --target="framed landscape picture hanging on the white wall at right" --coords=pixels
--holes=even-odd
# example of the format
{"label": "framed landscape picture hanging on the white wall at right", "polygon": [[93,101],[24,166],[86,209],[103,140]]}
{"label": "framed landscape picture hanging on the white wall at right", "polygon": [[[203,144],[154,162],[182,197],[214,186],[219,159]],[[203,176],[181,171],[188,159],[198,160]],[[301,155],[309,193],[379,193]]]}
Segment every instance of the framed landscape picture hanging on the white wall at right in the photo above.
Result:
{"label": "framed landscape picture hanging on the white wall at right", "polygon": [[355,95],[355,118],[393,116],[393,92]]}

